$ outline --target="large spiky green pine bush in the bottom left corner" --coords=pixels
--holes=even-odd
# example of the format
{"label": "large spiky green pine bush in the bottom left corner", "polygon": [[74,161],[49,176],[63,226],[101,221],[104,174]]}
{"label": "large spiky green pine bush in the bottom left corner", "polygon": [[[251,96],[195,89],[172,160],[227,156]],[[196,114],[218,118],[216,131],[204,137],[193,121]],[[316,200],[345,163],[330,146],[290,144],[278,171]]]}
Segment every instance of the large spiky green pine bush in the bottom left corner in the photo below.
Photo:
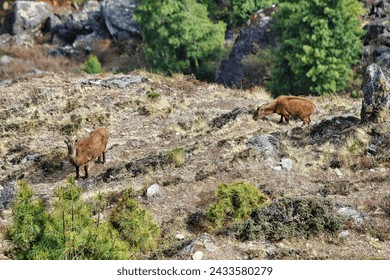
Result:
{"label": "large spiky green pine bush in the bottom left corner", "polygon": [[107,221],[96,223],[92,207],[80,199],[74,178],[56,191],[53,210],[44,207],[33,191],[20,183],[13,207],[13,224],[6,238],[16,259],[89,260],[129,259],[126,242]]}

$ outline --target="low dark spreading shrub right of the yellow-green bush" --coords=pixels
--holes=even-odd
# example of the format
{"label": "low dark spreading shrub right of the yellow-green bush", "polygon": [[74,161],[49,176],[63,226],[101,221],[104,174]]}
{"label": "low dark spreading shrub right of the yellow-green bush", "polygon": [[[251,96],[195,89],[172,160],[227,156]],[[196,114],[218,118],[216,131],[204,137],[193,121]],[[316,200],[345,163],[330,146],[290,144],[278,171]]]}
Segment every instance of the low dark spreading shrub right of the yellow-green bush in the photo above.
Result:
{"label": "low dark spreading shrub right of the yellow-green bush", "polygon": [[236,224],[239,239],[254,240],[261,236],[278,241],[293,236],[335,233],[345,219],[330,200],[317,198],[282,198],[253,212],[251,219]]}

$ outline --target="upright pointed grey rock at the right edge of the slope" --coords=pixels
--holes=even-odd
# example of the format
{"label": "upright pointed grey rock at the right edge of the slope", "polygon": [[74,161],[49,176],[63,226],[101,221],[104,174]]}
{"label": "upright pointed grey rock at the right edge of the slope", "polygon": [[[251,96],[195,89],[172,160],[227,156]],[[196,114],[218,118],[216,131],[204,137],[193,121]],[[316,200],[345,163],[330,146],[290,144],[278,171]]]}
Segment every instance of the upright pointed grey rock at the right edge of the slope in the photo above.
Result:
{"label": "upright pointed grey rock at the right edge of the slope", "polygon": [[390,110],[390,80],[377,64],[367,67],[363,80],[361,121],[381,121],[383,111]]}

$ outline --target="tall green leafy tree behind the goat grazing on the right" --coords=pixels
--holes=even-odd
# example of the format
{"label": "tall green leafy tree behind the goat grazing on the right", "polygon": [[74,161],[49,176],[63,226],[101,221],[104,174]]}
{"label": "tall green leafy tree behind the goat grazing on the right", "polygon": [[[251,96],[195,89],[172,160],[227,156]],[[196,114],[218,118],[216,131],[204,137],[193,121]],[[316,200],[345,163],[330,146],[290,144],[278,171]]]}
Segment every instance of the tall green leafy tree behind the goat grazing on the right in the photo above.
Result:
{"label": "tall green leafy tree behind the goat grazing on the right", "polygon": [[362,51],[358,0],[291,0],[276,15],[273,95],[327,94],[345,88]]}

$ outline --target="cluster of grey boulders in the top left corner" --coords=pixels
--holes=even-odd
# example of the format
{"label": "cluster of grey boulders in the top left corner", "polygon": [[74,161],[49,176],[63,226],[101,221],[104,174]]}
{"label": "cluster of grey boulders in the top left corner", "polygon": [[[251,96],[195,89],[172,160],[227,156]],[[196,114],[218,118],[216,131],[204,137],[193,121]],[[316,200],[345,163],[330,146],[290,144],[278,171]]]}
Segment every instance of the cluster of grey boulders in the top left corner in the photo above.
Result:
{"label": "cluster of grey boulders in the top left corner", "polygon": [[[2,20],[0,41],[32,46],[44,38],[41,41],[56,46],[51,56],[88,54],[97,40],[139,37],[140,26],[133,19],[137,5],[136,0],[90,0],[82,7],[56,9],[46,2],[16,1]],[[11,40],[5,37],[7,33]]]}

